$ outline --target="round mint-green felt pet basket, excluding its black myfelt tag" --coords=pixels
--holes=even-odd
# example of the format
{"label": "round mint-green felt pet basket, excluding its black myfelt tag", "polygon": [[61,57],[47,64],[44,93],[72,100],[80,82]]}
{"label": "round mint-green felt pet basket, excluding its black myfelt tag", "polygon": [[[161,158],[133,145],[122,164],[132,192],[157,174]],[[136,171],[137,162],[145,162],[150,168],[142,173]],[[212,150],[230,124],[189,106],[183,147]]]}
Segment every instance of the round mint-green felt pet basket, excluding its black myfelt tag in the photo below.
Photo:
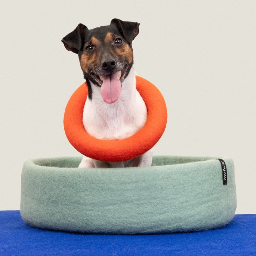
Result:
{"label": "round mint-green felt pet basket, excluding its black myfelt tag", "polygon": [[100,234],[155,234],[218,228],[236,209],[234,163],[153,156],[151,167],[77,168],[80,157],[27,160],[21,215],[31,226]]}

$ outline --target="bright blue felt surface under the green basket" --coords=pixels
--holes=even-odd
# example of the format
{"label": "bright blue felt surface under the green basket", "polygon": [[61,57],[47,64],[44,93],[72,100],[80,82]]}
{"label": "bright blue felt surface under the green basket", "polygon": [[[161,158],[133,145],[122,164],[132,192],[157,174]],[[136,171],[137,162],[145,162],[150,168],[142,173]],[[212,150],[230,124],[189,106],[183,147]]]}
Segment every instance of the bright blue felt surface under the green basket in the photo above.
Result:
{"label": "bright blue felt surface under the green basket", "polygon": [[256,215],[221,229],[165,235],[85,235],[31,228],[20,211],[0,211],[0,255],[256,256]]}

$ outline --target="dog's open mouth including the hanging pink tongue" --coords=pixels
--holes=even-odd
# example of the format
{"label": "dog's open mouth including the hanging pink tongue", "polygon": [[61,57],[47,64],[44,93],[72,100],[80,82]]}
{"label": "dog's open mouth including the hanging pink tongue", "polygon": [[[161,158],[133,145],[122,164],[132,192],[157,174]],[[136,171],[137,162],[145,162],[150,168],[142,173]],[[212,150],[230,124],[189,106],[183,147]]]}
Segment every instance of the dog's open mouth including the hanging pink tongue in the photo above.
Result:
{"label": "dog's open mouth including the hanging pink tongue", "polygon": [[97,83],[101,85],[101,96],[103,100],[106,103],[116,102],[121,92],[124,69],[107,75],[93,75]]}

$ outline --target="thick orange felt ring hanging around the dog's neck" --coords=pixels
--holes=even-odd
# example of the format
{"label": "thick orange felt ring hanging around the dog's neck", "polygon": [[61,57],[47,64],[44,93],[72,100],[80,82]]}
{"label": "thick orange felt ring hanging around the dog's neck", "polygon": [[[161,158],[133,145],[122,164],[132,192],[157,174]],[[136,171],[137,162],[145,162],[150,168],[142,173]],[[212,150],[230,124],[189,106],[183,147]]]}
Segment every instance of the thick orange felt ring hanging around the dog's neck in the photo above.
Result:
{"label": "thick orange felt ring hanging around the dog's neck", "polygon": [[148,110],[145,126],[122,140],[101,140],[84,129],[82,115],[88,89],[86,83],[82,84],[70,97],[64,113],[64,130],[71,145],[83,155],[107,162],[130,160],[153,148],[166,127],[165,100],[161,92],[144,78],[136,76],[136,87]]}

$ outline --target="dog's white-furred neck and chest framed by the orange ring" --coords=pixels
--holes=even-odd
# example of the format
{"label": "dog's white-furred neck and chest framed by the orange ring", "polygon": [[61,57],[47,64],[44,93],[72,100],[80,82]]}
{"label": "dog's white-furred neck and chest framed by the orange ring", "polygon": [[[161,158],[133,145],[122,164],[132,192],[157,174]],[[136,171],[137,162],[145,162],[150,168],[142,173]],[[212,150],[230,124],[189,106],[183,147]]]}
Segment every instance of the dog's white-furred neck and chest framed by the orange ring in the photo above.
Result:
{"label": "dog's white-furred neck and chest framed by the orange ring", "polygon": [[135,70],[132,68],[124,81],[118,100],[103,101],[101,88],[92,84],[92,99],[84,108],[84,126],[98,139],[123,139],[141,129],[147,118],[145,103],[136,90]]}

